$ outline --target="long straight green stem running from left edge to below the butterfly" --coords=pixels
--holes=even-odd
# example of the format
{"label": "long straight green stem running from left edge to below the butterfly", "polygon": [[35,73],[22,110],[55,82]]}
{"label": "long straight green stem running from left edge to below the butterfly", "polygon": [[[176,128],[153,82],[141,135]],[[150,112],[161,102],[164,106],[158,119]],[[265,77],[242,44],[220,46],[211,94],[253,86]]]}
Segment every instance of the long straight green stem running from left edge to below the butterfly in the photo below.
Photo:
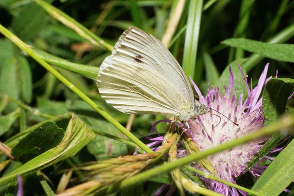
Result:
{"label": "long straight green stem running from left edge to below the butterfly", "polygon": [[55,75],[62,83],[64,83],[68,88],[70,88],[76,95],[86,101],[91,107],[93,107],[102,117],[104,117],[107,121],[112,123],[115,127],[117,127],[124,135],[126,135],[130,140],[132,140],[138,147],[141,147],[146,152],[153,152],[150,148],[148,148],[141,140],[139,140],[136,136],[134,136],[131,132],[126,130],[122,124],[117,122],[114,118],[112,118],[107,112],[102,110],[92,99],[88,98],[84,93],[82,93],[79,89],[77,89],[69,80],[63,77],[60,73],[54,70],[48,63],[46,63],[43,59],[41,59],[37,54],[35,54],[26,44],[8,31],[4,26],[0,25],[0,32],[10,39],[15,45],[17,45],[20,49],[24,50],[28,55],[30,55],[33,59],[35,59],[38,63],[40,63],[45,69],[47,69],[50,73]]}

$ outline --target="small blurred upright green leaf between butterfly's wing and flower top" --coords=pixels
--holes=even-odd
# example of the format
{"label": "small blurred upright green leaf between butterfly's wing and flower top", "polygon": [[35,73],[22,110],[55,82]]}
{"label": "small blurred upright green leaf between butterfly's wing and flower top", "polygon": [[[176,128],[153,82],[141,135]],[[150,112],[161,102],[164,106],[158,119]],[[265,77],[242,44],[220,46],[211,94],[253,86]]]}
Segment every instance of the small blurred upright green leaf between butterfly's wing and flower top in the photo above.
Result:
{"label": "small blurred upright green leaf between butterfly's wing and flower top", "polygon": [[206,81],[210,85],[217,85],[220,73],[208,52],[203,51],[203,62],[206,70]]}

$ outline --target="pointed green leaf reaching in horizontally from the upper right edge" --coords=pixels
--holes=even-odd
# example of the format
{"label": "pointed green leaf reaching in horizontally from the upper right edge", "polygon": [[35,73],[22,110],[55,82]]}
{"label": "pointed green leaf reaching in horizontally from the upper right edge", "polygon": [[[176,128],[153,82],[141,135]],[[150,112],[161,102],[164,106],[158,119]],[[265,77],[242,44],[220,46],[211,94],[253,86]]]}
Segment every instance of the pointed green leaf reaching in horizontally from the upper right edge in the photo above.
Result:
{"label": "pointed green leaf reaching in horizontally from the upper right edge", "polygon": [[224,40],[222,44],[245,49],[249,52],[257,53],[274,60],[294,62],[293,44],[269,44],[244,38],[227,39]]}

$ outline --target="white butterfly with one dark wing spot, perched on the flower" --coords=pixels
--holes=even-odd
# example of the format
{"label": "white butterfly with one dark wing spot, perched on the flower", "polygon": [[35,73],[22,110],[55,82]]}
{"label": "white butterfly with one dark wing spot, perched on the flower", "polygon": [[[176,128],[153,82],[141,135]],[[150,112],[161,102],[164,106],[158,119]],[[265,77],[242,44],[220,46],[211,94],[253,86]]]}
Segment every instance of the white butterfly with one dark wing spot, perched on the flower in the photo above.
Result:
{"label": "white butterfly with one dark wing spot, perched on the flower", "polygon": [[183,69],[153,35],[131,26],[100,66],[100,95],[127,114],[157,114],[188,121],[208,109],[195,103]]}

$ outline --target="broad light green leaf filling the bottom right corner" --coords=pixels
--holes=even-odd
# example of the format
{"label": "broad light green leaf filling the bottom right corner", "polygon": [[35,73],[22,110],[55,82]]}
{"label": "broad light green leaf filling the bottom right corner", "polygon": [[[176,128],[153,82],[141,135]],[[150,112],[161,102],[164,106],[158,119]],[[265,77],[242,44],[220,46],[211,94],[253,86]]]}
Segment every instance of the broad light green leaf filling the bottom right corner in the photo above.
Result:
{"label": "broad light green leaf filling the bottom right corner", "polygon": [[279,196],[294,180],[294,140],[271,162],[252,187],[264,196]]}

